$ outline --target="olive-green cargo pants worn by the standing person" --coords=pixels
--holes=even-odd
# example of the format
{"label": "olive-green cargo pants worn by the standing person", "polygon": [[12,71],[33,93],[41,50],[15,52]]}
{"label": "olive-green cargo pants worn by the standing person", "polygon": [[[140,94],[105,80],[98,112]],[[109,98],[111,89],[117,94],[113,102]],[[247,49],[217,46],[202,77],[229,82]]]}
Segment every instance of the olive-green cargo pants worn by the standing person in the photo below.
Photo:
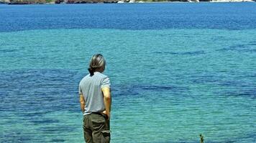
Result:
{"label": "olive-green cargo pants worn by the standing person", "polygon": [[109,120],[101,113],[83,116],[83,136],[86,143],[109,143]]}

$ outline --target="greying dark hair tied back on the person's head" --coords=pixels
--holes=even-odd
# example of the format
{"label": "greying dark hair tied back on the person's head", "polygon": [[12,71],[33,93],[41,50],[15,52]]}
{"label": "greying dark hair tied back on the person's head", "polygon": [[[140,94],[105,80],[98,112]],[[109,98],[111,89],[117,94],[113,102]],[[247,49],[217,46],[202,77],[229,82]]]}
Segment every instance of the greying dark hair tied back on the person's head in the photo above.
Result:
{"label": "greying dark hair tied back on the person's head", "polygon": [[94,54],[91,57],[91,61],[89,63],[88,71],[90,72],[90,75],[93,76],[93,73],[101,68],[104,68],[106,64],[106,61],[102,54]]}

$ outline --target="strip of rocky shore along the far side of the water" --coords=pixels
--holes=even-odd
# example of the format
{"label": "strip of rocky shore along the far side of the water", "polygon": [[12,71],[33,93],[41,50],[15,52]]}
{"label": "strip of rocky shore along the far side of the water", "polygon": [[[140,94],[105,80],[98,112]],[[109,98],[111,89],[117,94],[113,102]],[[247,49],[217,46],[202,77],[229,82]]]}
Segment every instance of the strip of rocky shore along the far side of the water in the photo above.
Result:
{"label": "strip of rocky shore along the far side of the water", "polygon": [[150,2],[255,2],[256,0],[0,0],[0,4],[94,4]]}

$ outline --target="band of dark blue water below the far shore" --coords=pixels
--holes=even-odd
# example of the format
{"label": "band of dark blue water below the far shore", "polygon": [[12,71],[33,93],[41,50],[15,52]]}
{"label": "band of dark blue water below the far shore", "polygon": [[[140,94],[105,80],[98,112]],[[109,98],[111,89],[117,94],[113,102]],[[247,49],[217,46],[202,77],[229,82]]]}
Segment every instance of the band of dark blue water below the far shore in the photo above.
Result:
{"label": "band of dark blue water below the far shore", "polygon": [[254,29],[255,3],[0,5],[0,31]]}

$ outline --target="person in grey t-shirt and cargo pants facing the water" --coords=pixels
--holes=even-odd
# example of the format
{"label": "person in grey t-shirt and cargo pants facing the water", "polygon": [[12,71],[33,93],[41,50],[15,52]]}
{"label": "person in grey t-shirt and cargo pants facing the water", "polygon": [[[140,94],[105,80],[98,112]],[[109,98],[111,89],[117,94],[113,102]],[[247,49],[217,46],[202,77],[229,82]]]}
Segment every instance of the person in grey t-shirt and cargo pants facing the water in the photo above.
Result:
{"label": "person in grey t-shirt and cargo pants facing the water", "polygon": [[83,77],[79,84],[86,143],[110,142],[111,90],[109,77],[102,74],[105,64],[101,54],[93,55],[88,68],[90,74]]}

